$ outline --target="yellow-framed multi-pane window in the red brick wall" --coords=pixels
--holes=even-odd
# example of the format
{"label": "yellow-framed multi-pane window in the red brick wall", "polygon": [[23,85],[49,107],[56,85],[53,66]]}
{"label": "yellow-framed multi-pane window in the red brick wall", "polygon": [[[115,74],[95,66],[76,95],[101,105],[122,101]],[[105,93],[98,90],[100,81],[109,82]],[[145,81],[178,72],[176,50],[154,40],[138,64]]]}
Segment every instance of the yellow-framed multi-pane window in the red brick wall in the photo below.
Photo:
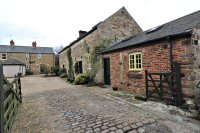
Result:
{"label": "yellow-framed multi-pane window in the red brick wall", "polygon": [[142,70],[142,54],[129,54],[129,70]]}

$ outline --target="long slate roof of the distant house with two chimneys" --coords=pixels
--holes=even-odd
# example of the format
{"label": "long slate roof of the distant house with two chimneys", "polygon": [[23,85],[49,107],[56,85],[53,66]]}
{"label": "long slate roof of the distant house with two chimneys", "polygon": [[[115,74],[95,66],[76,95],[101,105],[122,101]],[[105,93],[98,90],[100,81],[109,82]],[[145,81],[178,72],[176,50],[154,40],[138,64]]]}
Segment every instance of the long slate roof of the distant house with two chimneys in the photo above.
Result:
{"label": "long slate roof of the distant house with two chimneys", "polygon": [[54,54],[52,47],[0,45],[0,53]]}

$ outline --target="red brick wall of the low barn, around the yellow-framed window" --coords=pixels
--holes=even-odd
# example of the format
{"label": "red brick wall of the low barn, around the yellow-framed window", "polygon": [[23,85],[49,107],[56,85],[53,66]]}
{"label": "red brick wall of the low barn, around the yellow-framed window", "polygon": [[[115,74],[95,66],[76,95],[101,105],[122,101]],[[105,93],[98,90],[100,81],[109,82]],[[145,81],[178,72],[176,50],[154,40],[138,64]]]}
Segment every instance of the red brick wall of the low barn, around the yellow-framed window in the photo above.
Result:
{"label": "red brick wall of the low barn, around the yellow-framed window", "polygon": [[[120,52],[123,56],[123,63],[120,63]],[[129,70],[129,54],[134,52],[142,53],[142,71]],[[118,52],[104,54],[103,58],[110,58],[111,86],[119,89],[134,91],[137,95],[145,94],[145,70],[149,72],[169,72],[169,43],[160,41],[146,44],[140,47],[132,47]],[[173,40],[174,61],[182,63],[181,72],[185,75],[182,78],[183,92],[188,93],[192,81],[189,77],[192,73],[191,39],[179,38]],[[120,65],[123,65],[123,80],[120,79]],[[121,73],[122,74],[122,73]]]}

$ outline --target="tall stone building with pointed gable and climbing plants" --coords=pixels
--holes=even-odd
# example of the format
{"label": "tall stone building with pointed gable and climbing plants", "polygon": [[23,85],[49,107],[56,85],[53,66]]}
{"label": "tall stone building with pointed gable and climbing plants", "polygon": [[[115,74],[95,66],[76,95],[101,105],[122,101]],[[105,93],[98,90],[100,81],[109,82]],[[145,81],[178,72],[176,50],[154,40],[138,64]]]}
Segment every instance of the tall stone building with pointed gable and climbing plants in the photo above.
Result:
{"label": "tall stone building with pointed gable and climbing plants", "polygon": [[[59,66],[69,71],[67,51],[71,50],[74,75],[86,73],[91,69],[90,53],[95,46],[105,40],[117,42],[142,32],[140,26],[122,7],[116,13],[95,25],[90,31],[79,31],[79,37],[59,52]],[[87,44],[87,47],[85,46]],[[75,66],[75,67],[74,67]],[[99,68],[96,82],[103,82],[103,69]]]}

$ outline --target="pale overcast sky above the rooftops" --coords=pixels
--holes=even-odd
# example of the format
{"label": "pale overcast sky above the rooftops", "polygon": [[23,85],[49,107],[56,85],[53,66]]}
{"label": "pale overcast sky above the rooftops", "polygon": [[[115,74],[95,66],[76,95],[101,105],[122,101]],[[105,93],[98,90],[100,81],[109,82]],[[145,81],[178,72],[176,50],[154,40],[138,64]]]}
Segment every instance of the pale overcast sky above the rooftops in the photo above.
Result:
{"label": "pale overcast sky above the rooftops", "polygon": [[66,46],[123,6],[147,30],[200,10],[200,0],[0,0],[0,44]]}

